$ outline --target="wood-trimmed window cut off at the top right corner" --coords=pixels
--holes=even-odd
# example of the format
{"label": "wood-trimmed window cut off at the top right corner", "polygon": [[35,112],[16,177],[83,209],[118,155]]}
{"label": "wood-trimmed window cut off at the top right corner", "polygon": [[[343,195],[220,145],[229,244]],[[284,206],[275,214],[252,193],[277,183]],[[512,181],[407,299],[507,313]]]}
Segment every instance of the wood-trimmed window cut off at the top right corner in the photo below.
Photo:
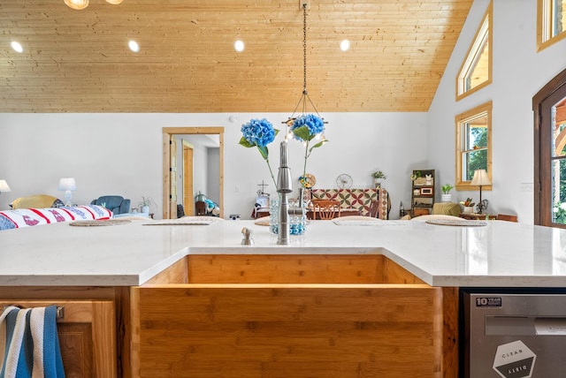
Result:
{"label": "wood-trimmed window cut off at the top right corner", "polygon": [[538,0],[537,51],[566,38],[566,0]]}

